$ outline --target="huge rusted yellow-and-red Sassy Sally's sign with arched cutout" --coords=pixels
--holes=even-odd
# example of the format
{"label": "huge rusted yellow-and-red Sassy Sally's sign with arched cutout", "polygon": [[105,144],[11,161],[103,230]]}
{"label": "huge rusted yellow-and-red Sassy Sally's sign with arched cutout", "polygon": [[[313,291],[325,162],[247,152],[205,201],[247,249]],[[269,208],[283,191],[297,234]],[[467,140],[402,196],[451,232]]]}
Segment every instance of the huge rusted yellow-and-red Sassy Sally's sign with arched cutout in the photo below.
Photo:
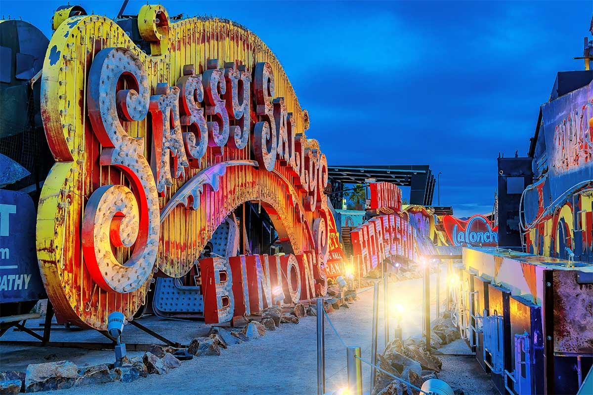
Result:
{"label": "huge rusted yellow-and-red Sassy Sally's sign with arched cutout", "polygon": [[[310,254],[314,267],[301,275],[317,273],[323,288],[326,156],[305,136],[308,114],[260,38],[217,18],[170,23],[165,8],[145,5],[146,54],[109,18],[62,14],[43,65],[56,164],[37,216],[56,311],[95,329],[112,311],[132,317],[154,272],[186,274],[246,201],[261,202],[285,251]],[[227,308],[217,301],[218,320]]]}

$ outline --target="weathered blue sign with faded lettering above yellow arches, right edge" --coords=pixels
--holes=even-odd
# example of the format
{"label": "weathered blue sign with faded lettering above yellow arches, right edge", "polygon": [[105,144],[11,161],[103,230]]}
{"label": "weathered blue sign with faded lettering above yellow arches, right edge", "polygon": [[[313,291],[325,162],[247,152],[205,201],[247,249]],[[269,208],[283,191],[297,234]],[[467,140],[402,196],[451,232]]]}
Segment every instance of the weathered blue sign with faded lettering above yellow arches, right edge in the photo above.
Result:
{"label": "weathered blue sign with faded lettering above yellow arches, right edge", "polygon": [[593,82],[541,106],[522,197],[527,251],[593,262]]}

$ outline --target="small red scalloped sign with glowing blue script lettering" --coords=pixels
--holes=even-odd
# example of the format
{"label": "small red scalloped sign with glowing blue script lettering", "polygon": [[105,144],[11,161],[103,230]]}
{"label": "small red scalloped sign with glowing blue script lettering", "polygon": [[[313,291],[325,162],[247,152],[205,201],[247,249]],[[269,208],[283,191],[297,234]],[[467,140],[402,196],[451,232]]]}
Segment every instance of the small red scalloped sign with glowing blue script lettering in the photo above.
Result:
{"label": "small red scalloped sign with glowing blue script lettering", "polygon": [[454,216],[444,216],[443,226],[451,243],[456,246],[498,246],[498,226],[477,214],[467,221]]}

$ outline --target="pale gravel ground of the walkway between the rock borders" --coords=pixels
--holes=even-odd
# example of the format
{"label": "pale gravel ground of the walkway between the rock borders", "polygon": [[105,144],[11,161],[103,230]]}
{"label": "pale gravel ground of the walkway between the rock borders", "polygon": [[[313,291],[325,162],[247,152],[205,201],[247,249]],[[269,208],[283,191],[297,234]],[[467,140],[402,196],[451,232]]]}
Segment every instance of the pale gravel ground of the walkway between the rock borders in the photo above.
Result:
{"label": "pale gravel ground of the walkway between the rock borders", "polygon": [[[443,288],[441,287],[441,289]],[[368,288],[367,291],[359,294],[360,300],[351,304],[350,308],[342,308],[329,314],[343,341],[347,345],[361,346],[362,357],[365,359],[371,358],[372,294],[372,288]],[[380,293],[379,300],[381,305],[382,293]],[[392,305],[402,304],[404,306],[404,319],[401,322],[404,338],[419,335],[422,314],[422,280],[408,280],[390,284],[390,300]],[[436,296],[433,298],[432,308],[434,314]],[[380,309],[379,317],[378,348],[382,350],[384,348],[382,309]],[[195,323],[162,320],[160,324],[161,327],[168,326],[172,328],[169,329],[169,334],[175,338],[191,338],[192,333],[197,332],[195,325]],[[391,333],[393,333],[394,327],[396,327],[396,322],[393,320],[391,322]],[[203,329],[200,330],[200,332],[202,331]],[[219,357],[200,357],[183,362],[180,368],[171,370],[164,377],[149,375],[148,378],[141,378],[133,383],[84,386],[71,390],[50,391],[47,394],[315,394],[317,393],[317,343],[315,332],[315,317],[305,317],[301,319],[298,325],[283,324],[277,330],[267,332],[264,338],[222,350]],[[87,336],[91,333],[93,332],[87,332]],[[42,351],[40,348],[21,348],[20,350],[16,348],[12,348],[10,353],[14,359],[18,359],[21,352],[41,354],[41,352],[48,351],[46,349]],[[59,350],[60,359],[69,359],[68,353],[75,353],[76,357],[71,359],[79,366],[82,366],[82,362],[85,360],[91,361],[91,364],[111,362],[113,357],[113,352],[107,351],[76,350],[74,352],[72,349]],[[7,351],[7,349],[3,348],[0,351]],[[87,354],[86,357],[85,353]],[[4,352],[2,354],[4,355],[0,357],[0,365],[3,365],[2,369],[6,369],[5,357],[8,357],[8,355]],[[483,380],[476,380],[474,377],[479,373],[477,370],[481,371],[481,369],[472,358],[440,357],[443,357],[444,362],[444,371],[441,377],[451,383],[451,386],[468,388],[466,394],[490,393],[490,388],[483,383]],[[42,360],[36,361],[37,363],[46,362],[42,357],[38,358]],[[463,363],[460,363],[460,358],[463,358],[461,359]],[[474,365],[477,368],[472,368]],[[368,365],[363,364],[362,374],[363,388],[365,392],[368,392],[370,375]],[[345,348],[342,341],[337,338],[330,325],[326,322],[326,391],[346,387],[346,378]]]}

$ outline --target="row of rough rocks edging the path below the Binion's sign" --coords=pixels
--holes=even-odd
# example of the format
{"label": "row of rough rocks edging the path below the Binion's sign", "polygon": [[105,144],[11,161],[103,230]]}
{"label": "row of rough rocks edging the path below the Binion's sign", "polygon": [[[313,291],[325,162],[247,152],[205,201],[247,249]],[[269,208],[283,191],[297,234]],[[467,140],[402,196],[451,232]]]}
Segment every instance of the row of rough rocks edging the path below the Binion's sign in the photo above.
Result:
{"label": "row of rough rocks edging the path below the Binion's sign", "polygon": [[[330,287],[327,296],[324,300],[326,313],[340,307],[348,308],[352,301],[358,299],[356,290],[347,290],[344,293],[337,287]],[[154,344],[142,357],[124,357],[119,367],[114,367],[114,364],[98,364],[78,368],[71,361],[55,361],[30,364],[26,372],[2,371],[0,394],[62,390],[115,381],[130,383],[151,374],[166,375],[171,369],[180,367],[181,361],[221,355],[222,349],[262,338],[267,331],[278,329],[280,324],[295,325],[300,319],[317,314],[317,307],[313,304],[297,303],[288,313],[284,313],[280,306],[271,306],[262,311],[260,320],[249,319],[244,327],[227,330],[213,325],[208,336],[193,339],[187,348]]]}

